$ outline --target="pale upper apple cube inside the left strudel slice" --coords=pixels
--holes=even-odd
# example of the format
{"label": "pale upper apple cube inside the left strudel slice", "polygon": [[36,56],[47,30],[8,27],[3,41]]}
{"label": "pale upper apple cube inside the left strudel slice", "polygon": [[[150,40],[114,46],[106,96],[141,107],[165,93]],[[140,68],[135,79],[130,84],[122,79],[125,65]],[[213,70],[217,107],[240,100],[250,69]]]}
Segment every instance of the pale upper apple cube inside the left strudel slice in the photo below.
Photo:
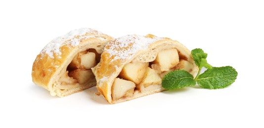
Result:
{"label": "pale upper apple cube inside the left strudel slice", "polygon": [[81,59],[81,66],[85,69],[90,69],[95,66],[95,54],[92,52],[88,52],[87,54],[84,54],[80,56]]}

